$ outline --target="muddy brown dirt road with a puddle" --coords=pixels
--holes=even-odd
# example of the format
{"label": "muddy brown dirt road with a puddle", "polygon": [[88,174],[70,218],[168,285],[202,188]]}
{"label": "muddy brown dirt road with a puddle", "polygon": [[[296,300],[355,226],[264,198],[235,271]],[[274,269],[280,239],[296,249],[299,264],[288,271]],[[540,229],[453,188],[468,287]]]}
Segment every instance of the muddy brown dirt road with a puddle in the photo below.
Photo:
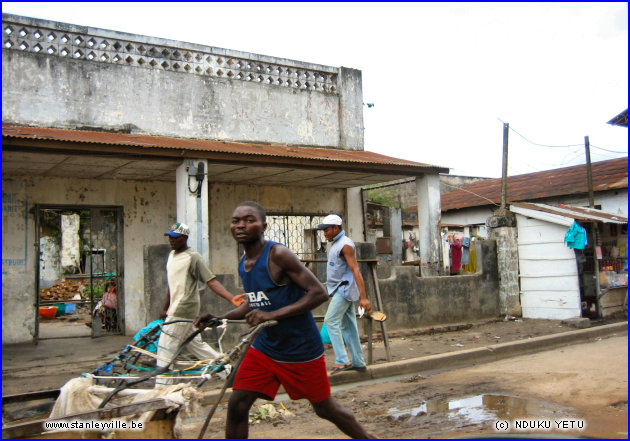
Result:
{"label": "muddy brown dirt road with a puddle", "polygon": [[[449,372],[340,386],[334,397],[380,438],[506,433],[627,438],[627,343],[627,335],[614,336]],[[279,396],[261,409],[265,404],[258,401],[252,408],[251,438],[345,437],[305,401]],[[221,406],[207,438],[223,437],[224,418]],[[507,430],[495,428],[506,424]],[[184,435],[196,437],[200,426],[188,425]]]}

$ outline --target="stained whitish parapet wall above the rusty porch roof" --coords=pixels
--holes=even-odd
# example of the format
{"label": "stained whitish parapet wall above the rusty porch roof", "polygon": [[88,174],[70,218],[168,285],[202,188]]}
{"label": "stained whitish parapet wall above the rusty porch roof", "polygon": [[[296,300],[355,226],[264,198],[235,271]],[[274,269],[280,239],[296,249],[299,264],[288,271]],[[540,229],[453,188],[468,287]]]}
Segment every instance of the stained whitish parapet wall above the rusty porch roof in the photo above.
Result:
{"label": "stained whitish parapet wall above the rusty porch roof", "polygon": [[2,17],[4,124],[363,150],[360,71]]}

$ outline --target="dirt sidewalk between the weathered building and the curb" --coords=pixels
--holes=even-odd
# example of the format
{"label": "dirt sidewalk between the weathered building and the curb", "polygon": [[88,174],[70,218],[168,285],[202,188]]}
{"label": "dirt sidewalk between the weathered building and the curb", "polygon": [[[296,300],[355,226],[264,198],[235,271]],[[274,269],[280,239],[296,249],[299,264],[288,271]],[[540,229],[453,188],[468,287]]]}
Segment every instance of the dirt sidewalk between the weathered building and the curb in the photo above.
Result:
{"label": "dirt sidewalk between the weathered building and the curb", "polygon": [[[602,321],[593,326],[605,323]],[[67,324],[59,322],[55,325],[55,328],[48,330],[49,333],[56,335],[67,332]],[[83,324],[79,325],[89,331]],[[558,320],[489,321],[390,332],[389,342],[392,361],[399,361],[572,330],[575,328]],[[375,364],[387,361],[383,341],[378,338],[379,331],[379,327],[375,326]],[[42,340],[37,346],[3,345],[2,395],[59,388],[68,380],[111,360],[132,341],[131,336],[114,336]],[[366,343],[363,344],[363,353],[367,360]],[[334,353],[329,347],[326,350],[326,363],[330,367],[334,362]]]}

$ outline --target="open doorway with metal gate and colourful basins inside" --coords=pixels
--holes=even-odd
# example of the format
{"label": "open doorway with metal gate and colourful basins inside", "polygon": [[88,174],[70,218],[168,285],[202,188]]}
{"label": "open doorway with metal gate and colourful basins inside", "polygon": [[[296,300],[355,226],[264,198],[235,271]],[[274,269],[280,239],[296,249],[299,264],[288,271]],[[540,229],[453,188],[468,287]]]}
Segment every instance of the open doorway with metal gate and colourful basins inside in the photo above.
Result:
{"label": "open doorway with metal gate and colourful basins inside", "polygon": [[122,207],[36,206],[35,339],[120,334]]}

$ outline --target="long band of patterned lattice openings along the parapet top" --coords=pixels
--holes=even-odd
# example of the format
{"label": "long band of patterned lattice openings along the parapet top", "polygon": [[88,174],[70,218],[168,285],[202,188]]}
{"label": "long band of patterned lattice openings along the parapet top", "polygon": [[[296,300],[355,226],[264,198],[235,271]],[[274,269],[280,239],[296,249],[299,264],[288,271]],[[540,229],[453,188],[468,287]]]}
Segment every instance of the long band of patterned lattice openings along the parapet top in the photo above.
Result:
{"label": "long band of patterned lattice openings along the parapet top", "polygon": [[334,68],[316,70],[310,66],[300,66],[298,62],[295,65],[273,63],[255,59],[255,55],[248,53],[241,53],[242,57],[226,56],[219,53],[221,50],[213,52],[210,47],[207,47],[208,51],[193,50],[30,26],[6,20],[2,23],[2,34],[4,50],[183,72],[300,90],[337,92],[337,71]]}

